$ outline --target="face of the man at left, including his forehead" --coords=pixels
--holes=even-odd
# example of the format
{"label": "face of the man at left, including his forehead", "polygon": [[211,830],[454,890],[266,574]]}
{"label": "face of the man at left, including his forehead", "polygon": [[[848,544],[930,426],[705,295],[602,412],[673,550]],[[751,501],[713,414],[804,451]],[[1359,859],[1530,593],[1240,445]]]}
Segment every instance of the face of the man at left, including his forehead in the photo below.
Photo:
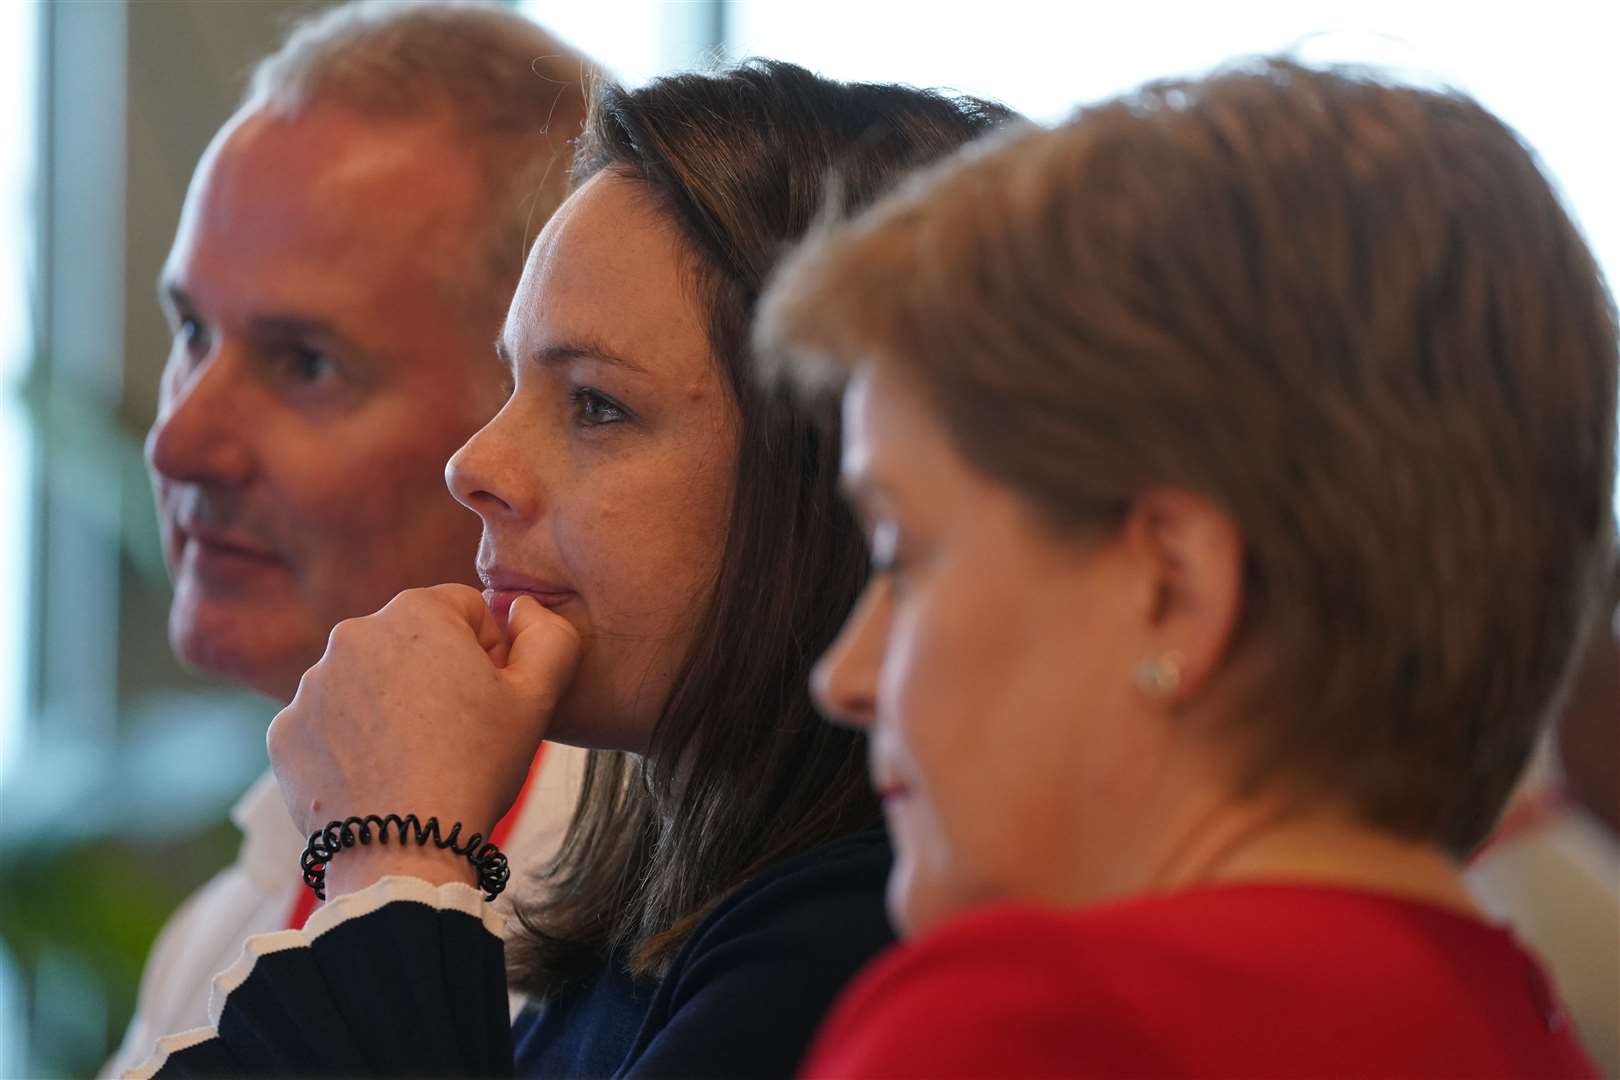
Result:
{"label": "face of the man at left, including his forehead", "polygon": [[[476,162],[437,120],[238,115],[191,180],[146,440],[188,664],[290,699],[332,625],[476,581],[444,463],[505,398]],[[465,277],[465,275],[462,275]]]}

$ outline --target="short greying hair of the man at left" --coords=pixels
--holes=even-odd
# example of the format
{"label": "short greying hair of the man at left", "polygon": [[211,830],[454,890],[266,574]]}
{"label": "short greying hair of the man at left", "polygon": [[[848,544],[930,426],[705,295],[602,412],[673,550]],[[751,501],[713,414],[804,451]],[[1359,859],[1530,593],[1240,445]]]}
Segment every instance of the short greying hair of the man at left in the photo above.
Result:
{"label": "short greying hair of the man at left", "polygon": [[447,117],[484,176],[484,240],[468,248],[476,300],[492,291],[504,304],[528,244],[569,193],[595,78],[582,53],[499,3],[360,0],[296,23],[254,68],[243,108],[293,118],[337,104],[379,120]]}

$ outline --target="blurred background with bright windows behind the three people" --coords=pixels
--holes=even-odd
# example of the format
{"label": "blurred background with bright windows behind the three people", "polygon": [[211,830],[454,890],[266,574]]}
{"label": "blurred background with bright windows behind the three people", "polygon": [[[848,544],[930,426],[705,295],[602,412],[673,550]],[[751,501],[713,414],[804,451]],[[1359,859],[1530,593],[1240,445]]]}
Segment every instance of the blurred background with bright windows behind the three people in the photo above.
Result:
{"label": "blurred background with bright windows behind the three people", "polygon": [[[290,0],[0,2],[0,1077],[92,1074],[146,949],[228,861],[272,708],[186,675],[141,437],[186,181]],[[1055,120],[1296,49],[1458,84],[1529,139],[1620,272],[1620,3],[531,0],[630,83],[774,55]]]}

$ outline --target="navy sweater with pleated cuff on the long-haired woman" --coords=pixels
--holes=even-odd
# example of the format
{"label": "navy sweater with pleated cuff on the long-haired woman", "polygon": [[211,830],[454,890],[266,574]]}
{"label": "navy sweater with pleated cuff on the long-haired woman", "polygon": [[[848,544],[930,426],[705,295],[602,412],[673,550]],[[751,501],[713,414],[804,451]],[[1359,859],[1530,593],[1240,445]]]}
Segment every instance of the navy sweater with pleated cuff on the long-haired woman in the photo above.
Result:
{"label": "navy sweater with pleated cuff on the long-haired woman", "polygon": [[505,1023],[499,939],[399,900],[261,955],[214,1038],[160,1077],[787,1077],[838,991],[891,941],[880,829],[782,860],[729,895],[658,984],[606,963]]}

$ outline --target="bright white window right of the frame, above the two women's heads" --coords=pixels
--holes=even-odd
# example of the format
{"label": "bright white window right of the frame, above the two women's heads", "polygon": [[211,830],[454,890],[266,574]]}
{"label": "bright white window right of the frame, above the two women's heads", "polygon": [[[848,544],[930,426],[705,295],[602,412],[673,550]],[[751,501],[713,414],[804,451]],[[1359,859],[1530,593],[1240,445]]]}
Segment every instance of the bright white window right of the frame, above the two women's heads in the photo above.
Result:
{"label": "bright white window right of the frame, above the two women's heads", "polygon": [[[1476,96],[1541,154],[1620,283],[1620,151],[1612,66],[1620,5],[1542,0],[1168,0],[1152,5],[734,0],[734,57],[794,60],[834,78],[946,86],[1053,121],[1145,79],[1298,50]],[[1620,513],[1620,491],[1615,494]]]}

